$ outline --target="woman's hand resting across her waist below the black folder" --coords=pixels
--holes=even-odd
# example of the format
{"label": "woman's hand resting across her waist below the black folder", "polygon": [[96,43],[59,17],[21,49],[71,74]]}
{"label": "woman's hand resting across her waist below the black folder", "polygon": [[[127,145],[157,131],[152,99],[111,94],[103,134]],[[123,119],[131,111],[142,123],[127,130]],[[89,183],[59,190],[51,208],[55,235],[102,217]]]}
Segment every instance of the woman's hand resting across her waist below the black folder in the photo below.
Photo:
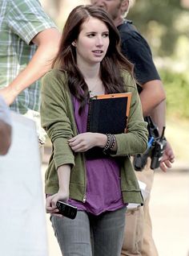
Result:
{"label": "woman's hand resting across her waist below the black folder", "polygon": [[92,147],[105,147],[107,135],[86,132],[68,139],[69,145],[74,152],[86,152]]}

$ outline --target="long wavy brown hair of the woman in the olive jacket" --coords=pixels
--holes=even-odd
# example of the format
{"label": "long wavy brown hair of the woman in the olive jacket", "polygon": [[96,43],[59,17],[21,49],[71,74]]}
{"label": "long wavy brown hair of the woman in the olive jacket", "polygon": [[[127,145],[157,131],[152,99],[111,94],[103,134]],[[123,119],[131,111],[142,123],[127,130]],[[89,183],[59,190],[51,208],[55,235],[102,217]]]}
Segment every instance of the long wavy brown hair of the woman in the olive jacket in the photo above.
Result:
{"label": "long wavy brown hair of the woman in the olive jacket", "polygon": [[[76,63],[76,50],[72,45],[82,29],[82,23],[89,17],[101,20],[109,30],[110,43],[107,54],[100,65],[100,76],[107,93],[121,93],[123,89],[123,78],[120,70],[127,70],[133,76],[133,65],[119,50],[119,32],[111,17],[105,10],[97,6],[77,6],[70,12],[62,32],[62,40],[59,51],[53,62],[54,66],[68,74],[68,86],[70,93],[81,102],[81,109],[89,98],[89,91]],[[82,89],[82,90],[81,90]],[[83,93],[82,93],[83,92]]]}

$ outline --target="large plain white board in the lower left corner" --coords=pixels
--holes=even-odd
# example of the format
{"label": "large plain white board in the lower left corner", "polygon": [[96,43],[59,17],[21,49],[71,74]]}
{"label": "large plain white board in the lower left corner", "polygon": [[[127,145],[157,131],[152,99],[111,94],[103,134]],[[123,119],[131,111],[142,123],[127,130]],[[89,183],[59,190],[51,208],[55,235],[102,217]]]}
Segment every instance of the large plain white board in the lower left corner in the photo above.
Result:
{"label": "large plain white board in the lower left corner", "polygon": [[38,138],[32,120],[11,114],[10,151],[0,156],[0,255],[47,256]]}

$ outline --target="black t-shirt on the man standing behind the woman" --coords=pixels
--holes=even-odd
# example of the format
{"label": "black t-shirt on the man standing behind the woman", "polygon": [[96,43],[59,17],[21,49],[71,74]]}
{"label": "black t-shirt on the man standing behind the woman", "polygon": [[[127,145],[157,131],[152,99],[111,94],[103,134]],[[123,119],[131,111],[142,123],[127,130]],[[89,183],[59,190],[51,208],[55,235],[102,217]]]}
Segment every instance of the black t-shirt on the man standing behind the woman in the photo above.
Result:
{"label": "black t-shirt on the man standing behind the woman", "polygon": [[135,65],[135,77],[140,85],[148,81],[160,80],[147,40],[139,34],[132,22],[127,19],[117,28],[122,40],[123,55]]}

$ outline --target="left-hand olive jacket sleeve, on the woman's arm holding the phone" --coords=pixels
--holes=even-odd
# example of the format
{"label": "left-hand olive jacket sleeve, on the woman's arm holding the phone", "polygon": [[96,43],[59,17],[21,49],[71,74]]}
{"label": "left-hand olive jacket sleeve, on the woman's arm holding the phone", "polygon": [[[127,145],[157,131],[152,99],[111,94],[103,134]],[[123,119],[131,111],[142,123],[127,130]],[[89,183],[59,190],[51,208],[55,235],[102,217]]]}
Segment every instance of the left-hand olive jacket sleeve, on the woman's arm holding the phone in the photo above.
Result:
{"label": "left-hand olive jacket sleeve, on the woman's arm holding the phone", "polygon": [[74,165],[74,154],[67,141],[68,138],[73,137],[73,131],[62,86],[64,86],[63,82],[51,72],[42,79],[41,122],[53,145],[56,169],[62,164]]}

